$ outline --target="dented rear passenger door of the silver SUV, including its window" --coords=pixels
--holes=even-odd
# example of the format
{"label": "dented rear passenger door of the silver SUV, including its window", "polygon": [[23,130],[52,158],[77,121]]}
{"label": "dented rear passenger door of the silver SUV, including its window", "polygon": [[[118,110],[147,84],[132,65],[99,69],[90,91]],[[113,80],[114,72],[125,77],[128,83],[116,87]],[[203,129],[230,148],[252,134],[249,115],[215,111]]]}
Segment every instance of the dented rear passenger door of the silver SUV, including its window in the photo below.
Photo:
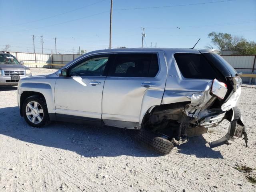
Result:
{"label": "dented rear passenger door of the silver SUV, including its window", "polygon": [[142,108],[148,110],[151,104],[154,105],[154,99],[160,104],[166,64],[162,62],[164,67],[160,74],[157,52],[115,53],[115,56],[104,84],[102,120],[109,126],[134,128],[138,126]]}

